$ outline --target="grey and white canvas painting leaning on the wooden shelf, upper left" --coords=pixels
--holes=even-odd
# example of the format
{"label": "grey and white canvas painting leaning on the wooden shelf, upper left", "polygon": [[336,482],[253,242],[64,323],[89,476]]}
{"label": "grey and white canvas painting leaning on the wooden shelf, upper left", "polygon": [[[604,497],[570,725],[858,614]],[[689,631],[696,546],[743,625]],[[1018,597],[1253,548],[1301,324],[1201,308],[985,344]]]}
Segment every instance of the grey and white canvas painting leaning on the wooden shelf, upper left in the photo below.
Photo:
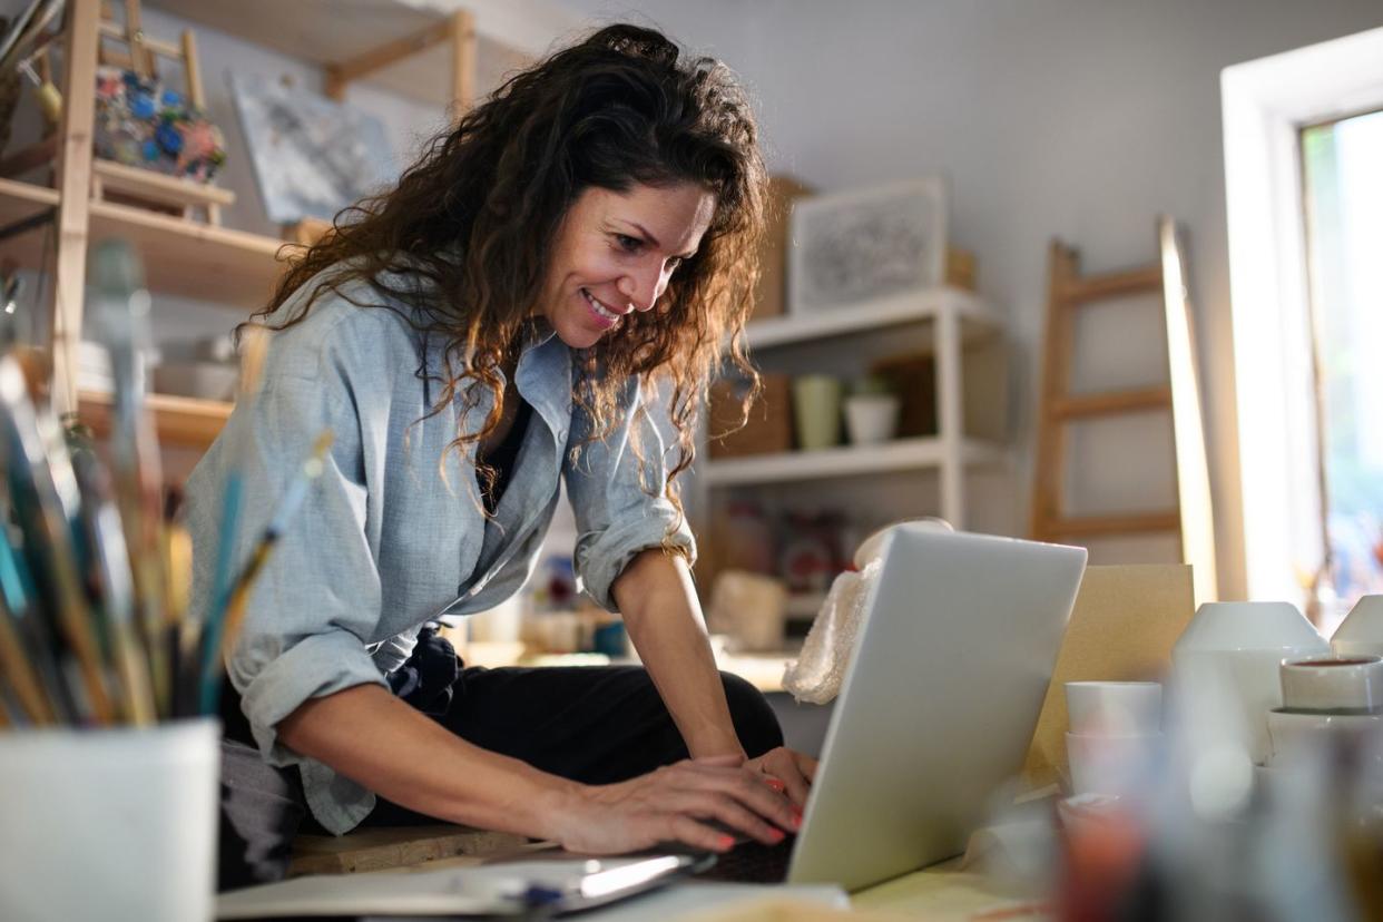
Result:
{"label": "grey and white canvas painting leaning on the wooden shelf, upper left", "polygon": [[271,221],[331,220],[396,178],[379,119],[253,73],[232,73],[231,95]]}

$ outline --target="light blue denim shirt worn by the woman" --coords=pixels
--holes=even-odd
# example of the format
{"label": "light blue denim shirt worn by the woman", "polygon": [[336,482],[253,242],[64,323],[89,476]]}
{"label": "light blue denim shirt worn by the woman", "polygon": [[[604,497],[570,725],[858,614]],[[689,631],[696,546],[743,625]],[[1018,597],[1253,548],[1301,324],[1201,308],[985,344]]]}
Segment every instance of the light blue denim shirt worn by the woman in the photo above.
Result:
{"label": "light blue denim shirt worn by the woman", "polygon": [[[343,290],[360,303],[382,301],[364,283]],[[375,795],[290,752],[275,726],[310,698],[364,683],[387,687],[384,673],[408,658],[426,621],[485,611],[517,592],[559,502],[559,477],[577,520],[582,590],[610,611],[610,586],[640,550],[671,536],[694,556],[686,524],[661,496],[662,444],[651,422],[635,413],[642,401],[635,382],[625,387],[620,426],[573,463],[570,448],[591,431],[573,401],[577,364],[546,328],[531,336],[514,384],[534,413],[487,521],[474,446],[466,458],[444,449],[456,437],[458,417],[467,431],[479,430],[491,395],[481,388],[469,412],[458,395],[455,412],[427,417],[437,383],[416,375],[425,354],[438,369],[440,348],[393,310],[324,293],[303,322],[272,335],[257,399],[235,408],[187,482],[199,617],[216,568],[228,470],[243,471],[241,565],[318,434],[335,433],[324,474],[254,585],[227,672],[264,758],[300,766],[313,814],[336,834],[365,818]],[[636,419],[649,460],[642,473],[629,446]]]}

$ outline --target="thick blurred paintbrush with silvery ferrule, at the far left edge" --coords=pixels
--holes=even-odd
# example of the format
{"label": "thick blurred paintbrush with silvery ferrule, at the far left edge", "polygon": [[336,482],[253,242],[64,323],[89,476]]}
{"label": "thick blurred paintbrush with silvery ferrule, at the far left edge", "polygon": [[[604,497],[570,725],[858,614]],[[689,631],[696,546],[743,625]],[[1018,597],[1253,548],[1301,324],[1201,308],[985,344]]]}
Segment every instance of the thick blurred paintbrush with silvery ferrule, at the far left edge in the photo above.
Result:
{"label": "thick blurred paintbrush with silvery ferrule, at the far left edge", "polygon": [[72,545],[79,505],[76,478],[57,420],[37,413],[24,372],[11,355],[0,355],[0,451],[36,585],[51,592],[41,597],[54,610],[80,676],[82,694],[73,695],[73,704],[84,719],[109,724],[116,709]]}

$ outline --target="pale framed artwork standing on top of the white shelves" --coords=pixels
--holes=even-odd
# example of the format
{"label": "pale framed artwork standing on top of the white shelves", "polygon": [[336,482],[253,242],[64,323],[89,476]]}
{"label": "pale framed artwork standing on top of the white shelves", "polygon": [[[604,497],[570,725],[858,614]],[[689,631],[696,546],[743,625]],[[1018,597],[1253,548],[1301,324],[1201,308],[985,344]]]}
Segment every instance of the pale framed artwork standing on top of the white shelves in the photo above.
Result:
{"label": "pale framed artwork standing on top of the white shelves", "polygon": [[795,202],[788,312],[849,308],[942,285],[946,205],[940,177]]}

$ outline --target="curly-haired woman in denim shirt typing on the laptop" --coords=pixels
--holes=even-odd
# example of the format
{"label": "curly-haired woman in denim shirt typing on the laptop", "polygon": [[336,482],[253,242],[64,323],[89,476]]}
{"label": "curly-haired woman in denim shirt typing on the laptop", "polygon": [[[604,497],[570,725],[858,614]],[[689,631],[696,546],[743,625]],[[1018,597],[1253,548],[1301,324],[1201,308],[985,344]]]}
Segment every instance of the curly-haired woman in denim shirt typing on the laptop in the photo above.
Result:
{"label": "curly-haired woman in denim shirt typing on the laptop", "polygon": [[[335,434],[227,664],[223,886],[281,875],[303,824],[436,817],[586,853],[797,828],[815,763],[715,670],[674,487],[726,336],[747,368],[762,184],[729,72],[611,26],[509,80],[292,265],[259,315],[261,393],[188,484],[205,600],[230,471],[241,521],[266,523]],[[520,587],[559,480],[584,589],[646,670],[458,673],[423,626]]]}

